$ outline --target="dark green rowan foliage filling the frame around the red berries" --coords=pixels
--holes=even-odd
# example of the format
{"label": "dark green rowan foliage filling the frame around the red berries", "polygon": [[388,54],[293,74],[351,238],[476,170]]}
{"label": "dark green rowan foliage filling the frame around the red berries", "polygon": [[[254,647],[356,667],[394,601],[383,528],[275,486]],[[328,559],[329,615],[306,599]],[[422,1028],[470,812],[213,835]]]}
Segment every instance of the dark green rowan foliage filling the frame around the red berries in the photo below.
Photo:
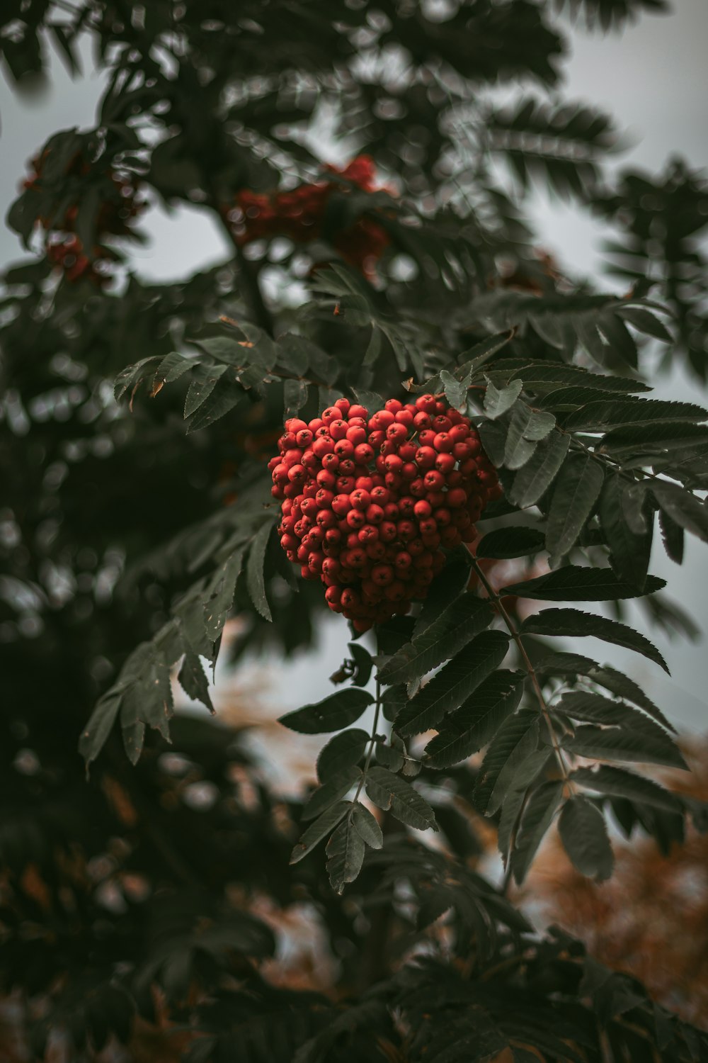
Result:
{"label": "dark green rowan foliage filling the frame around the red berries", "polygon": [[[677,563],[686,533],[708,540],[706,410],[645,398],[657,349],[706,376],[705,182],[680,163],[610,178],[610,120],[536,91],[558,83],[564,13],[609,29],[662,6],[4,4],[19,90],[49,48],[80,74],[87,40],[106,75],[96,128],[37,146],[41,179],[7,215],[32,257],[0,303],[0,979],[27,1003],[28,1058],[56,1039],[77,1060],[127,1058],[162,1020],[187,1063],[708,1058],[705,1034],[505,895],[556,822],[599,880],[606,816],[663,851],[705,827],[698,802],[637,766],[684,767],[661,708],[546,643],[598,638],[666,669],[619,603],[690,631],[647,571],[655,513]],[[536,95],[493,106],[485,90],[511,80]],[[330,174],[316,238],[244,251],[238,193],[317,182],[304,134],[326,112],[385,187]],[[227,259],[143,283],[137,222],[107,237],[113,286],[57,273],[37,218],[62,232],[75,205],[93,254],[111,174],[208,214]],[[539,181],[616,227],[624,297],[536,255]],[[375,273],[340,243],[366,224],[388,240]],[[312,643],[323,588],[286,560],[269,493],[283,419],[429,391],[479,427],[503,496],[426,601],[352,632],[336,689],[322,677],[322,701],[281,719],[328,737],[316,787],[286,798],[238,728],[177,710],[174,680],[213,711],[220,654],[278,668]],[[476,870],[480,815],[500,889]],[[255,909],[312,913],[331,996],[271,984],[280,942]]]}

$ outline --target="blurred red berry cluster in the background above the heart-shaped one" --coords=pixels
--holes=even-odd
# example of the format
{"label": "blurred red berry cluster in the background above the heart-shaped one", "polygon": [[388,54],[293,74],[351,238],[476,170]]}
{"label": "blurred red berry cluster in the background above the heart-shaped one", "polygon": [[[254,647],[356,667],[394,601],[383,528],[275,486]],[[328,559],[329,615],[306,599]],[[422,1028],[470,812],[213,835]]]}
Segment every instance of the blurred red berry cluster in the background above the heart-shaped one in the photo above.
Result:
{"label": "blurred red berry cluster in the background above the heart-shaped one", "polygon": [[[357,156],[343,170],[333,166],[326,169],[364,191],[376,189],[375,164],[368,155]],[[239,243],[272,239],[274,236],[286,236],[295,243],[317,239],[322,236],[327,201],[333,191],[346,192],[347,188],[339,182],[320,181],[272,195],[248,189],[240,191],[234,217]],[[388,244],[388,236],[370,218],[360,218],[353,225],[336,233],[332,244],[345,261],[370,276],[376,261]]]}

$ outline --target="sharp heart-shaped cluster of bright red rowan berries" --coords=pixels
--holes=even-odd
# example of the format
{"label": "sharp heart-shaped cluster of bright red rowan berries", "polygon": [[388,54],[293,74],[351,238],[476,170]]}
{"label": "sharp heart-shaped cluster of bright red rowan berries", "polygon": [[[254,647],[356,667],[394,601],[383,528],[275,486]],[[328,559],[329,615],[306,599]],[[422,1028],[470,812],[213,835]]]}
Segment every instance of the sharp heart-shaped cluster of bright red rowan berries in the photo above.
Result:
{"label": "sharp heart-shaped cluster of bright red rowan berries", "polygon": [[431,394],[390,399],[372,418],[338,399],[309,423],[287,421],[278,449],[280,545],[358,631],[426,597],[443,547],[471,542],[501,494],[468,418]]}

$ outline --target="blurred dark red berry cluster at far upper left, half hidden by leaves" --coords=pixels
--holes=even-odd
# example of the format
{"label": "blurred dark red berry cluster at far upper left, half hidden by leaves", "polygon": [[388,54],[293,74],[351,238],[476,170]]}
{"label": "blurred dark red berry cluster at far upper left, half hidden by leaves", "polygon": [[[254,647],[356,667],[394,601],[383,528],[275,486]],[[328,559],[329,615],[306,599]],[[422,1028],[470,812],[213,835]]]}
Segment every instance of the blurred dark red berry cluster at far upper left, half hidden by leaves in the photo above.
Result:
{"label": "blurred dark red berry cluster at far upper left, half hidden by leaves", "polygon": [[[49,152],[46,151],[32,159],[34,173],[23,182],[25,192],[31,195],[45,191],[42,176],[48,155]],[[65,176],[81,181],[90,171],[90,164],[81,152],[76,152],[66,168]],[[96,219],[97,237],[100,239],[108,235],[129,236],[133,232],[131,229],[133,219],[146,204],[137,199],[137,190],[133,184],[119,176],[113,169],[107,168],[103,171],[99,180],[103,201]],[[77,197],[81,193],[81,186],[77,186]],[[66,207],[61,218],[53,214],[37,215],[38,224],[51,234],[46,243],[47,258],[64,271],[67,281],[75,282],[85,276],[93,284],[103,286],[110,280],[110,264],[117,256],[109,248],[102,244],[97,244],[89,255],[75,235],[77,218],[77,202]]]}

